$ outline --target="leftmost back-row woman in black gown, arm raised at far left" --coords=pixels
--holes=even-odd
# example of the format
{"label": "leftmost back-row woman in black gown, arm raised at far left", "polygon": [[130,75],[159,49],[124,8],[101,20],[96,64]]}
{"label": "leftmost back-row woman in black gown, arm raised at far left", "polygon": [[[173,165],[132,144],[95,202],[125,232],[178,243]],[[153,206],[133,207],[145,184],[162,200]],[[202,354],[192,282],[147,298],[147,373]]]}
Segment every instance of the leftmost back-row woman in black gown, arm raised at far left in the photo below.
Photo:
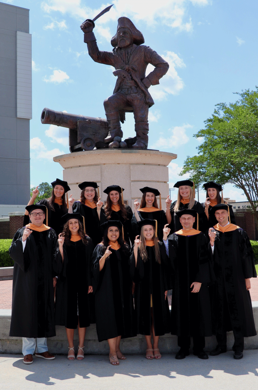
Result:
{"label": "leftmost back-row woman in black gown, arm raised at far left", "polygon": [[[52,183],[52,194],[48,199],[41,199],[36,204],[43,204],[48,209],[48,226],[55,230],[57,236],[63,231],[62,216],[67,213],[67,202],[65,201],[65,193],[70,191],[67,181],[56,179]],[[38,186],[32,191],[32,197],[28,202],[28,206],[34,204],[37,195],[39,194]],[[68,197],[67,197],[68,199]],[[25,211],[23,220],[24,225],[29,223],[28,211]],[[44,221],[46,223],[46,220]]]}

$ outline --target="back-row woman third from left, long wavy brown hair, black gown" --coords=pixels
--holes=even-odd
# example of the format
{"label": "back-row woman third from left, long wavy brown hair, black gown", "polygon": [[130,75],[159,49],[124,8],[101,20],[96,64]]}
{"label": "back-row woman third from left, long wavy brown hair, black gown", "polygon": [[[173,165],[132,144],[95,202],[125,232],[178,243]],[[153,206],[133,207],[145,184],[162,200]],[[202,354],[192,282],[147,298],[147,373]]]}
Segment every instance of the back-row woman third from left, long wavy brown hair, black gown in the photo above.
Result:
{"label": "back-row woman third from left, long wavy brown hair, black gown", "polygon": [[[130,246],[134,243],[134,234],[131,220],[133,211],[130,206],[124,204],[124,188],[116,185],[108,186],[103,191],[108,194],[106,205],[104,207],[106,219],[120,221],[124,227],[124,239]],[[131,241],[131,243],[130,243]]]}

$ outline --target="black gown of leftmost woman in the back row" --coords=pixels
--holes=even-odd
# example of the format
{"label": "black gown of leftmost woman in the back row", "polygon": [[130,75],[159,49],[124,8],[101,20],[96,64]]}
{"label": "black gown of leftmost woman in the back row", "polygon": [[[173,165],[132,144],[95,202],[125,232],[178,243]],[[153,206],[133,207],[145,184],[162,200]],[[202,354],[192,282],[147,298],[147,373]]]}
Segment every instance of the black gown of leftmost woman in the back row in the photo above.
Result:
{"label": "black gown of leftmost woman in the back row", "polygon": [[[57,236],[59,233],[62,233],[64,224],[61,220],[62,216],[68,213],[67,207],[65,206],[65,211],[63,206],[60,206],[57,203],[54,203],[54,210],[51,210],[48,204],[48,199],[41,199],[39,202],[35,204],[43,204],[48,209],[48,226],[55,230]],[[30,217],[28,215],[24,216],[23,225],[27,225],[30,222]],[[44,222],[46,224],[46,219]]]}

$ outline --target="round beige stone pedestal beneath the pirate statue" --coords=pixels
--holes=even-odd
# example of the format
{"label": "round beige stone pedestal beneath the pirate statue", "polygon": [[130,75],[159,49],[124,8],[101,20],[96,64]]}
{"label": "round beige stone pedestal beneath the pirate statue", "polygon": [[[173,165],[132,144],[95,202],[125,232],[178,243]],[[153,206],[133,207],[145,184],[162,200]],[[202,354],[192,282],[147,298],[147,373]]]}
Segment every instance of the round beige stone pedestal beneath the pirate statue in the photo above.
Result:
{"label": "round beige stone pedestal beneath the pirate statue", "polygon": [[[80,199],[78,184],[95,181],[99,185],[101,200],[107,195],[103,190],[112,184],[122,186],[124,200],[132,207],[134,199],[141,199],[139,188],[149,186],[161,193],[162,208],[169,195],[168,164],[177,154],[154,150],[98,149],[63,154],[53,158],[64,168],[63,179],[68,182],[72,196]],[[159,203],[158,203],[159,204]]]}

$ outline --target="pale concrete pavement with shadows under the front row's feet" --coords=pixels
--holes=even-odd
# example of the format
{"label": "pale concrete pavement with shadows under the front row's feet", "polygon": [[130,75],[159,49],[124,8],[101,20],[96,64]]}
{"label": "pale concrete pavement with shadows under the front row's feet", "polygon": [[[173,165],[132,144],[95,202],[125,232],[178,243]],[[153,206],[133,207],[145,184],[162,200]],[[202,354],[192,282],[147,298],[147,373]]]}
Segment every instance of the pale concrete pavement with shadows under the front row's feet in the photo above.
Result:
{"label": "pale concrete pavement with shadows under the front row's feet", "polygon": [[[142,355],[129,355],[117,367],[108,356],[90,355],[81,361],[57,356],[46,361],[35,358],[30,365],[21,355],[0,355],[0,383],[5,390],[236,390],[258,388],[258,350],[244,351],[244,358],[233,359],[233,352],[210,356],[208,360],[163,355],[148,361]],[[48,387],[49,388],[49,387]]]}

